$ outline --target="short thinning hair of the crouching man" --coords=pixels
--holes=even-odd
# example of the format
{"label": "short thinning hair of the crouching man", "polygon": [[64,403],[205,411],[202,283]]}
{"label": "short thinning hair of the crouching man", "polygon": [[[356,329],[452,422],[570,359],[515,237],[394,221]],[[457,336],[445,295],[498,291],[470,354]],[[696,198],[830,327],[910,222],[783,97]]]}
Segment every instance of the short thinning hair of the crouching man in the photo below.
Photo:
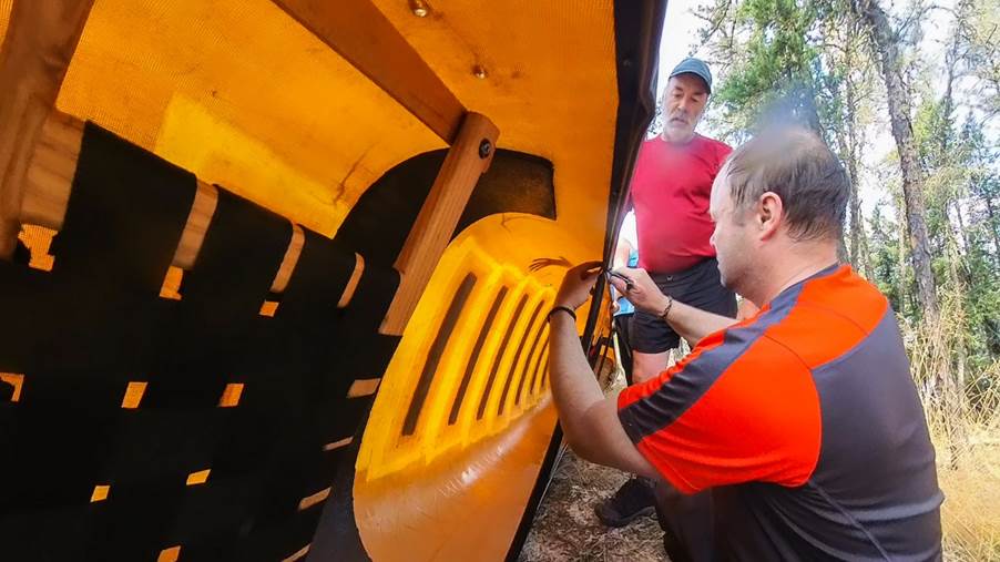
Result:
{"label": "short thinning hair of the crouching man", "polygon": [[766,192],[777,194],[793,239],[839,239],[844,234],[850,182],[837,156],[807,129],[783,126],[758,134],[729,156],[726,178],[737,212]]}

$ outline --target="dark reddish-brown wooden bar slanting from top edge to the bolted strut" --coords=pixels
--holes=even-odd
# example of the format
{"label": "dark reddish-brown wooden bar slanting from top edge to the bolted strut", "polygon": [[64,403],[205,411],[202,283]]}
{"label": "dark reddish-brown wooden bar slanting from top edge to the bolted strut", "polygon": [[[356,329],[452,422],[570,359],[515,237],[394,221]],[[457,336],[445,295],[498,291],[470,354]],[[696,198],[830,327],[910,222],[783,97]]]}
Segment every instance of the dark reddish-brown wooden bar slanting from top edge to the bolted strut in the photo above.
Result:
{"label": "dark reddish-brown wooden bar slanting from top edge to the bolted strut", "polygon": [[274,0],[445,142],[466,109],[370,0]]}

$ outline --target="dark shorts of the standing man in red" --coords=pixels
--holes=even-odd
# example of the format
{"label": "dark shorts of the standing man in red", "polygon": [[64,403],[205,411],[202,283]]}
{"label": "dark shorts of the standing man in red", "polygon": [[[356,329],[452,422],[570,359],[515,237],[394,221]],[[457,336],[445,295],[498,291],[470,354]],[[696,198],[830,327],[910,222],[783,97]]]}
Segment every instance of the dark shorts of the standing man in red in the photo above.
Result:
{"label": "dark shorts of the standing man in red", "polygon": [[[736,294],[720,283],[718,262],[714,257],[683,272],[670,275],[650,272],[650,276],[664,295],[678,303],[736,317]],[[681,344],[681,336],[654,314],[636,310],[630,328],[632,350],[640,354],[662,354]]]}

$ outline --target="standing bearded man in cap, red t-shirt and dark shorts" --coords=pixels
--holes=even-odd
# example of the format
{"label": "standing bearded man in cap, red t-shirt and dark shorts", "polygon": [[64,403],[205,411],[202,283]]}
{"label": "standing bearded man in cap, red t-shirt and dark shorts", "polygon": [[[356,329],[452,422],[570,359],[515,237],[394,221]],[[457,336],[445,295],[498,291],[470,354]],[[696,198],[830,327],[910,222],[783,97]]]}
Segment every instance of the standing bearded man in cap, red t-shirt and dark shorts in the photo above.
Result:
{"label": "standing bearded man in cap, red t-shirt and dark shorts", "polygon": [[[712,182],[732,149],[695,132],[711,92],[712,73],[703,61],[685,59],[671,72],[663,94],[663,133],[639,150],[631,201],[639,266],[664,294],[703,310],[735,317],[736,296],[720,283],[715,248],[708,242],[715,227],[708,215]],[[681,338],[657,315],[642,310],[636,310],[630,328],[632,377],[641,384],[666,369],[670,352]],[[664,501],[684,502],[672,509],[705,511],[704,528],[675,533],[707,534],[707,498],[661,499],[661,503]],[[652,513],[653,505],[652,484],[632,479],[595,511],[604,524],[622,527]]]}

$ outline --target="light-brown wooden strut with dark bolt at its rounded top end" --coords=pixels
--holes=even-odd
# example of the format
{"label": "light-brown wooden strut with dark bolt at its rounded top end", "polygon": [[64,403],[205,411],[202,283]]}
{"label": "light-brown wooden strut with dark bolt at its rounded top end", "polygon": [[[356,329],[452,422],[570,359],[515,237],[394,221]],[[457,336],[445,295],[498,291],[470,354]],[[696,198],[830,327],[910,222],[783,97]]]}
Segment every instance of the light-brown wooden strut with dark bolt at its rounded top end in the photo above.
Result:
{"label": "light-brown wooden strut with dark bolt at its rounded top end", "polygon": [[417,222],[396,259],[395,267],[401,278],[379,328],[381,334],[402,335],[451,241],[472,188],[493,159],[499,135],[497,126],[479,113],[469,113],[462,121],[458,139],[448,151]]}

